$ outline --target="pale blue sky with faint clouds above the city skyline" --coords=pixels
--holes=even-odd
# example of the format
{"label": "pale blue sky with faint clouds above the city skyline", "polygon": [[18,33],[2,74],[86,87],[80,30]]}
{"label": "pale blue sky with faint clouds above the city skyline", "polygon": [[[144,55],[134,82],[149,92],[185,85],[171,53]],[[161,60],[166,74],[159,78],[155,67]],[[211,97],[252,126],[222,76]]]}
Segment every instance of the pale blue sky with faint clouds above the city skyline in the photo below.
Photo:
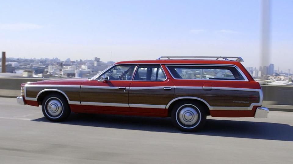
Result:
{"label": "pale blue sky with faint clouds above the city skyline", "polygon": [[[2,1],[8,57],[242,56],[259,67],[261,1]],[[291,69],[293,1],[272,1],[271,63]]]}

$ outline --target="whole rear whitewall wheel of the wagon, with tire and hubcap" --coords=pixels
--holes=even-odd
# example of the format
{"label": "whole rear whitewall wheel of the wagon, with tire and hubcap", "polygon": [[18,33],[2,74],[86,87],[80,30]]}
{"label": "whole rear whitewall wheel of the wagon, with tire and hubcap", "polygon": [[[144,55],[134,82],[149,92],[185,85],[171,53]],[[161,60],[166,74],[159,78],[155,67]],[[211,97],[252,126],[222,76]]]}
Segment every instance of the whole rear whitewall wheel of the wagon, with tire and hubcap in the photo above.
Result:
{"label": "whole rear whitewall wheel of the wagon, with tire and hubcap", "polygon": [[203,105],[192,101],[181,101],[172,109],[173,124],[181,131],[194,132],[205,124],[207,115]]}

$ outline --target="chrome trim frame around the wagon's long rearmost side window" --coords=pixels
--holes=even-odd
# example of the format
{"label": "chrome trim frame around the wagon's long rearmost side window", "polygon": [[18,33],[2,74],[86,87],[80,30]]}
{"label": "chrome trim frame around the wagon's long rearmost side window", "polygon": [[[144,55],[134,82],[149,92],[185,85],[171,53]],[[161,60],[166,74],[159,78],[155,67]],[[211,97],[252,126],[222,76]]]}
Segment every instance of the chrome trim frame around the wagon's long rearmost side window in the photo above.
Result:
{"label": "chrome trim frame around the wagon's long rearmost side window", "polygon": [[[242,70],[233,64],[165,64],[167,70],[169,71],[170,75],[172,76],[173,79],[176,80],[212,80],[212,81],[249,81],[245,74],[242,72]],[[235,67],[236,70],[241,74],[241,76],[244,78],[244,80],[216,80],[216,79],[178,79],[175,78],[171,71],[169,70],[168,66],[217,66],[217,67]]]}

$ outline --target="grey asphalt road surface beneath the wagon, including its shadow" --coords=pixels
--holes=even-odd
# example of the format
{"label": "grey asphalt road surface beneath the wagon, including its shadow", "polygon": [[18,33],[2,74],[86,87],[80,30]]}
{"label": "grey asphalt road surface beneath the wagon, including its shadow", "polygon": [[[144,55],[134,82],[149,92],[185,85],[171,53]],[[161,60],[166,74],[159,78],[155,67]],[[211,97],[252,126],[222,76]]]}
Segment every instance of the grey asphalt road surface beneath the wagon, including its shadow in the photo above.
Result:
{"label": "grey asphalt road surface beneath the wagon, including its shadow", "polygon": [[0,163],[292,163],[293,112],[267,119],[212,118],[196,133],[170,118],[71,114],[0,98]]}

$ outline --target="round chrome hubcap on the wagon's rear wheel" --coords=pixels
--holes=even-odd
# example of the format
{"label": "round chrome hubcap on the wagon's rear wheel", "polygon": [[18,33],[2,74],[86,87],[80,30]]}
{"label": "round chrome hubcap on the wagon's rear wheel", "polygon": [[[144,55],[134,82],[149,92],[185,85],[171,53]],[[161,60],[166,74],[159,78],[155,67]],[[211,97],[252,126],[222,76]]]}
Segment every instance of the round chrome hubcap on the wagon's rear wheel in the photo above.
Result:
{"label": "round chrome hubcap on the wagon's rear wheel", "polygon": [[185,107],[180,111],[179,119],[185,125],[193,125],[198,119],[198,114],[194,108]]}

